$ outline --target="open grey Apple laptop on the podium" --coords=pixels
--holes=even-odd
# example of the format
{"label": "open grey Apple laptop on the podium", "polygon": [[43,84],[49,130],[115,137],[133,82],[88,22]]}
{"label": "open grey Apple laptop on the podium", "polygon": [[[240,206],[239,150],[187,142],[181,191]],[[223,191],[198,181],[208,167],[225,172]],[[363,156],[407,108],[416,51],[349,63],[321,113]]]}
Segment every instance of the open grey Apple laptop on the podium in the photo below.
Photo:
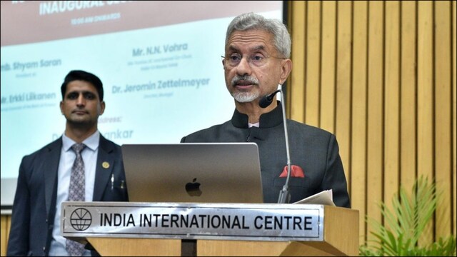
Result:
{"label": "open grey Apple laptop on the podium", "polygon": [[256,143],[121,148],[131,202],[263,203]]}

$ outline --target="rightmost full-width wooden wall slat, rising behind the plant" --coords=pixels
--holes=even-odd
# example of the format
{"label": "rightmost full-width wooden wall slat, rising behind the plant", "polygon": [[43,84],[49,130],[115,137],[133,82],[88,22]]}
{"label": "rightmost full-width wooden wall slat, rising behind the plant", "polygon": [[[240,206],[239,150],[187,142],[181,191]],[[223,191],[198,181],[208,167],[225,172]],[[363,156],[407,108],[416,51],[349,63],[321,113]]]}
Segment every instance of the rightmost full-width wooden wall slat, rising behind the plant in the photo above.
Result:
{"label": "rightmost full-width wooden wall slat, rising behind the plant", "polygon": [[434,84],[435,84],[435,179],[443,192],[436,211],[436,236],[451,233],[452,86],[451,86],[451,2],[435,1]]}

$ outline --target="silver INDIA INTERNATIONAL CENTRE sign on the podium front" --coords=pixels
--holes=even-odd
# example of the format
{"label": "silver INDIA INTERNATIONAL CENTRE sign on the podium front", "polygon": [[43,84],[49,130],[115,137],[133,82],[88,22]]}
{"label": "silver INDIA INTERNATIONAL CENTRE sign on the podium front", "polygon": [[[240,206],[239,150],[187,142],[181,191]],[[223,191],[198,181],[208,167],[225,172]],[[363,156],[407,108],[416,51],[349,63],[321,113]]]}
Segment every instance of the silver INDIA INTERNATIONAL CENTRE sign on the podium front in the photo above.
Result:
{"label": "silver INDIA INTERNATIONAL CENTRE sign on the podium front", "polygon": [[65,237],[323,241],[323,205],[64,202]]}

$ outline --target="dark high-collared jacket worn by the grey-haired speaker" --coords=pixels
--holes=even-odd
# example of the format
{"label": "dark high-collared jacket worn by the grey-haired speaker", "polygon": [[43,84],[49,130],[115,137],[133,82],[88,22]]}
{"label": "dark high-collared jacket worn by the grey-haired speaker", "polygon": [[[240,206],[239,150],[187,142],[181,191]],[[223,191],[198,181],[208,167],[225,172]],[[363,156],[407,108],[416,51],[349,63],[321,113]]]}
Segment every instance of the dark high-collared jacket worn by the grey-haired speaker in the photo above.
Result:
{"label": "dark high-collared jacket worn by the grey-haired speaker", "polygon": [[[257,143],[263,185],[263,201],[277,203],[286,182],[280,177],[287,165],[281,103],[260,117],[260,127],[248,128],[248,116],[235,110],[231,121],[184,136],[181,143],[254,142]],[[287,120],[291,164],[303,169],[304,177],[291,177],[290,203],[323,190],[332,189],[336,206],[351,208],[346,176],[338,153],[336,137],[313,126]],[[293,174],[293,173],[291,173]]]}

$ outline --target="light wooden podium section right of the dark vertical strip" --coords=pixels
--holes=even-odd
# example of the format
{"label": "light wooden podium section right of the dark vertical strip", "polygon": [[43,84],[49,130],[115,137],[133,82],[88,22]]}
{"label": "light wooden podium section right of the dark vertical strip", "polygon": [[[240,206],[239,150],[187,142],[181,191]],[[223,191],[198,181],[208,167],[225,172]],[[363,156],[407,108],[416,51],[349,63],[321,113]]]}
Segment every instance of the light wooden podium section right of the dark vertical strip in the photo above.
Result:
{"label": "light wooden podium section right of the dark vertical strip", "polygon": [[197,256],[358,256],[358,211],[325,206],[324,212],[323,241],[199,240]]}

